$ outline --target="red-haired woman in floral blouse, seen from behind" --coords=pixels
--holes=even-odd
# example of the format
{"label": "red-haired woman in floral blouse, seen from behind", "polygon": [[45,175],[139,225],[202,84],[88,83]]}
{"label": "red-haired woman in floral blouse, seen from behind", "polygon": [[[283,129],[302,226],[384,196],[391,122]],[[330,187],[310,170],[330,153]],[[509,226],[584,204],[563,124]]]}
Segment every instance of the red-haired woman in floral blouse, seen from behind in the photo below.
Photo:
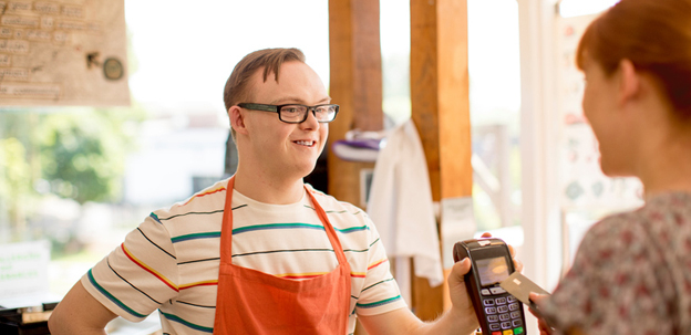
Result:
{"label": "red-haired woman in floral blouse, seen from behind", "polygon": [[[691,334],[691,0],[621,0],[577,52],[600,167],[635,176],[646,205],[584,238],[543,334]],[[534,312],[537,313],[537,312]]]}

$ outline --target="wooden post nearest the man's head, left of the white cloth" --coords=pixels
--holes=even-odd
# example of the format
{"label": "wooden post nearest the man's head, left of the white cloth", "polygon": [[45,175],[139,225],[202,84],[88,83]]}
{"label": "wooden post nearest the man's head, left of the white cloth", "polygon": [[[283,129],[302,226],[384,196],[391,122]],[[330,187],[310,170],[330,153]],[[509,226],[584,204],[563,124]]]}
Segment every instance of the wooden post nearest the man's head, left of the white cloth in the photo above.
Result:
{"label": "wooden post nearest the man's head, left of the white cloth", "polygon": [[[378,0],[329,0],[330,95],[341,109],[329,124],[329,144],[350,129],[381,130],[382,66]],[[329,193],[358,205],[360,171],[374,164],[344,161],[329,151]]]}

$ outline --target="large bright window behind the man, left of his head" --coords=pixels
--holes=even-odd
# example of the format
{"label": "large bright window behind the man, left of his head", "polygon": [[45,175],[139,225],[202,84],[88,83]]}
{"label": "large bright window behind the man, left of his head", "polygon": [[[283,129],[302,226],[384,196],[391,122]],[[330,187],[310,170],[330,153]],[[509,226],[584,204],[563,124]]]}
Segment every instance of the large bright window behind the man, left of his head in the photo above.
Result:
{"label": "large bright window behind the man, left of his head", "polygon": [[0,244],[50,241],[64,295],[152,210],[223,177],[223,88],[245,54],[299,48],[328,86],[327,6],[126,1],[131,107],[0,108]]}

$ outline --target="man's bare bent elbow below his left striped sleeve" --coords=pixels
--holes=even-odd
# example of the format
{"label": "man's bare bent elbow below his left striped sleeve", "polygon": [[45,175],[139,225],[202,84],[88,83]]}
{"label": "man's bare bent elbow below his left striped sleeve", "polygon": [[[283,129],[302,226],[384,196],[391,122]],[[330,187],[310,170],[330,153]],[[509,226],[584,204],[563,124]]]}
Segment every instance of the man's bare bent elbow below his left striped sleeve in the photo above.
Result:
{"label": "man's bare bent elbow below his left striped sleeve", "polygon": [[48,327],[53,335],[105,334],[105,326],[116,316],[76,282],[51,314]]}

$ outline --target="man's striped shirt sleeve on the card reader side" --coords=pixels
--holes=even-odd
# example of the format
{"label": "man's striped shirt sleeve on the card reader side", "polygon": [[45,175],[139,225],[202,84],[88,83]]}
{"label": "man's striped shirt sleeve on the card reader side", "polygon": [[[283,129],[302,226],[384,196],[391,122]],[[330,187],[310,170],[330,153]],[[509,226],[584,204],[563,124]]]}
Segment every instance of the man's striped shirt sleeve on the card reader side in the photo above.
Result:
{"label": "man's striped shirt sleeve on the card reader side", "polygon": [[368,269],[362,291],[355,304],[355,312],[358,315],[378,315],[408,307],[401,297],[399,285],[391,275],[389,259],[379,238],[379,232],[369,217],[367,224],[370,228]]}

